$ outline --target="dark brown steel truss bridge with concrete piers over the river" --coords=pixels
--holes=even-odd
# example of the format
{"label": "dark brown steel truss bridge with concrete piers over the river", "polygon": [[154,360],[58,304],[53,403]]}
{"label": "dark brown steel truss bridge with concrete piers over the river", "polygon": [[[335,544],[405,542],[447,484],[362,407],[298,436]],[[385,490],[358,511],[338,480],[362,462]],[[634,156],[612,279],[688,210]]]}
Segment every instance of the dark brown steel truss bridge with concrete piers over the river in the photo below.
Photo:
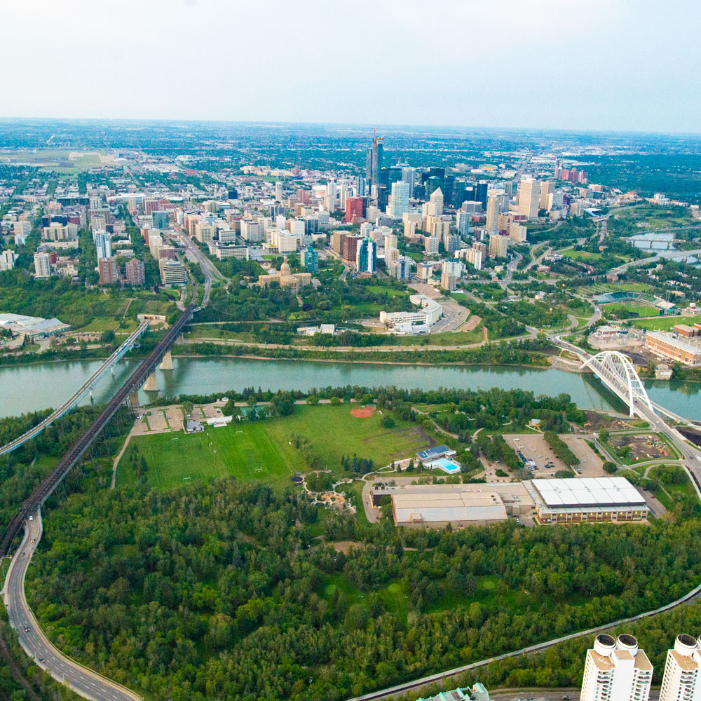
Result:
{"label": "dark brown steel truss bridge with concrete piers over the river", "polygon": [[[178,317],[177,321],[168,329],[163,339],[158,342],[149,355],[147,355],[137,369],[130,375],[129,379],[119,388],[111,398],[109,403],[104,407],[100,416],[97,416],[95,421],[90,425],[90,428],[83,433],[74,445],[61,458],[60,463],[50,472],[50,474],[39,484],[31,496],[22,503],[18,512],[14,515],[11,522],[8,524],[0,541],[0,557],[4,557],[10,552],[10,547],[15,536],[22,529],[22,525],[29,514],[36,513],[36,510],[48,499],[56,487],[62,482],[69,470],[76,465],[83,453],[93,444],[95,438],[100,435],[102,429],[107,426],[109,420],[116,414],[116,411],[121,405],[128,400],[129,393],[132,390],[139,389],[147,380],[149,374],[154,372],[156,366],[161,362],[161,358],[165,353],[170,351],[173,343],[178,336],[182,334],[182,329],[190,319],[193,311],[193,304],[185,308],[185,311]],[[126,352],[126,351],[125,351]],[[66,409],[67,411],[67,409]]]}

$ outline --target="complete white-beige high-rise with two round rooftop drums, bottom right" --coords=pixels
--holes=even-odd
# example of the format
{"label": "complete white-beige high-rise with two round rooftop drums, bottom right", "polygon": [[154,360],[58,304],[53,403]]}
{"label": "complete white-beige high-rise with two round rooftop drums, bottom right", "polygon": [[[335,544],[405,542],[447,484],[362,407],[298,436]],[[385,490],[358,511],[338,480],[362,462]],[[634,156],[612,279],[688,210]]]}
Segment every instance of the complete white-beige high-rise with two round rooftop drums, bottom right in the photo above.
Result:
{"label": "complete white-beige high-rise with two round rooftop drums, bottom right", "polygon": [[601,633],[587,650],[580,701],[648,701],[652,681],[653,666],[637,639]]}

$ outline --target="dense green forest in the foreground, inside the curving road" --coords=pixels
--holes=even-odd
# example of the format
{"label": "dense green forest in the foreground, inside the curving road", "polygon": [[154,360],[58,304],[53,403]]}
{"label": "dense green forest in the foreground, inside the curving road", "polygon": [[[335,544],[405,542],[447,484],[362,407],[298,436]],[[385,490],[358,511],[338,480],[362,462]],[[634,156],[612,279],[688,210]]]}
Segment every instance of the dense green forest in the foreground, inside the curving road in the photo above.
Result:
{"label": "dense green forest in the foreground, inside the curving road", "polygon": [[64,651],[155,699],[342,699],[654,608],[701,574],[696,519],[429,532],[318,523],[304,496],[233,479],[91,491],[50,512],[29,598]]}

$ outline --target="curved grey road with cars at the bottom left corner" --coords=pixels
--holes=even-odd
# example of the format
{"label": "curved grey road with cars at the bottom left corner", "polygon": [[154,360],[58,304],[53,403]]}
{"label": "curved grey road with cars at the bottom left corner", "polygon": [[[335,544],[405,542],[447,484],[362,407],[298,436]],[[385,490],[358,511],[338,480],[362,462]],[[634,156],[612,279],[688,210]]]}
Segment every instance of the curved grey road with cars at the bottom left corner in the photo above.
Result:
{"label": "curved grey road with cars at the bottom left corner", "polygon": [[25,522],[25,537],[15,552],[7,573],[4,603],[10,625],[17,631],[22,649],[41,667],[77,694],[92,701],[141,701],[141,698],[114,681],[100,676],[87,667],[60,653],[43,634],[25,597],[25,574],[32,554],[41,538],[39,512]]}

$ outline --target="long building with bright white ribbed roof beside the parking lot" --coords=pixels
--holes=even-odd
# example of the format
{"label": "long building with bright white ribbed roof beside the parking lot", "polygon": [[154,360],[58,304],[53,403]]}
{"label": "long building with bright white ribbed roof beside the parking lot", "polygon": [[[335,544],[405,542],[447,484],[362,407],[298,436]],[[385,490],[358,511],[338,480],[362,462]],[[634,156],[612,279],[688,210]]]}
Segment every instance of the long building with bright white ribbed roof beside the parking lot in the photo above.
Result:
{"label": "long building with bright white ribbed roof beside the parking lot", "polygon": [[648,516],[644,496],[625,477],[533,479],[524,486],[540,523],[640,521]]}

